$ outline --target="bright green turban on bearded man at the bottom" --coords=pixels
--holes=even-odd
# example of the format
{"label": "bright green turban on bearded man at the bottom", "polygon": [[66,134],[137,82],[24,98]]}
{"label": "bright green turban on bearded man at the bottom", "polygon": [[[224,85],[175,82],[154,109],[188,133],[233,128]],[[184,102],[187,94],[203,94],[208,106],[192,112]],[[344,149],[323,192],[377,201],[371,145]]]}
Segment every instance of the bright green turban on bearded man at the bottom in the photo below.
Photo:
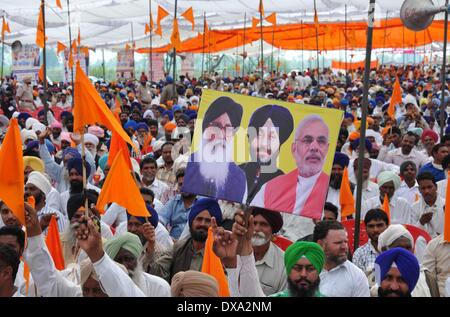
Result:
{"label": "bright green turban on bearded man at the bottom", "polygon": [[291,273],[294,265],[302,257],[306,257],[311,262],[317,273],[322,271],[325,263],[325,254],[322,247],[315,242],[300,241],[291,244],[284,253],[284,265],[287,275]]}

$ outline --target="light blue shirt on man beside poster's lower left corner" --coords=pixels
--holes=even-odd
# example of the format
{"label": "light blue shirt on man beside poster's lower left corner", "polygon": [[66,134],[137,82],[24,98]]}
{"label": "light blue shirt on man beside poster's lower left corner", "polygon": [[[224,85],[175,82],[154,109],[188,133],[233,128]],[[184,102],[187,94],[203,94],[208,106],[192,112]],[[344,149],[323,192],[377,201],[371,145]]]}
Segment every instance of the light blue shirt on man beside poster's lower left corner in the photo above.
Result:
{"label": "light blue shirt on man beside poster's lower left corner", "polygon": [[[192,205],[195,203],[195,199]],[[192,207],[191,205],[191,207]],[[180,194],[171,198],[164,208],[158,213],[159,221],[165,226],[170,227],[170,236],[178,239],[183,232],[184,226],[188,222],[191,207],[185,208],[183,197]]]}

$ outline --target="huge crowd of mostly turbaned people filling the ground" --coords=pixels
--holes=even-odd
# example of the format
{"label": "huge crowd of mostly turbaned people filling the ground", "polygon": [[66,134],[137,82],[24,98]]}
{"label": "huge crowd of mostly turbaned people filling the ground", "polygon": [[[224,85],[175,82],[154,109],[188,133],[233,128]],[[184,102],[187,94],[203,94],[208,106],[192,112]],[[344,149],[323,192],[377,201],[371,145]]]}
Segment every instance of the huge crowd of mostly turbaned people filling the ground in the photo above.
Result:
{"label": "huge crowd of mostly turbaned people filling the ground", "polygon": [[[403,99],[389,115],[396,76]],[[209,229],[230,296],[450,296],[450,243],[443,232],[450,91],[445,90],[441,135],[438,67],[372,70],[365,140],[360,140],[362,70],[201,79],[186,74],[159,82],[142,74],[139,80],[93,85],[108,108],[120,113],[121,125],[139,149],[129,146],[128,154],[151,217],[130,215],[116,203],[101,215],[94,207],[111,168],[111,131],[102,125],[86,127],[83,151],[80,135],[73,131],[72,85],[48,87],[46,112],[42,85],[33,85],[31,78],[17,82],[6,77],[0,87],[0,138],[17,118],[24,198],[34,197],[35,206],[25,205],[22,225],[0,202],[0,296],[216,297],[219,284],[201,272]],[[344,112],[322,219],[259,207],[244,210],[237,203],[181,191],[184,183],[199,181],[186,166],[204,89]],[[282,133],[276,137],[278,144],[287,139]],[[360,213],[368,241],[353,250],[349,219],[341,217],[339,200],[345,168],[356,197],[361,142]],[[61,237],[62,270],[45,244],[52,216]]]}

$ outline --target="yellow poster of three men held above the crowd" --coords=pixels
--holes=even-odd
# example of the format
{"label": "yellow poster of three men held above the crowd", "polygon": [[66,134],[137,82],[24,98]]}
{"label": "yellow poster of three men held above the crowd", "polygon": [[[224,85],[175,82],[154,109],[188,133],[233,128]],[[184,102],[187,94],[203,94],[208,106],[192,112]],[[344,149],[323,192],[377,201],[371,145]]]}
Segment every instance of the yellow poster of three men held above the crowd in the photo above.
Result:
{"label": "yellow poster of three men held above the crowd", "polygon": [[343,112],[205,90],[183,192],[320,219]]}

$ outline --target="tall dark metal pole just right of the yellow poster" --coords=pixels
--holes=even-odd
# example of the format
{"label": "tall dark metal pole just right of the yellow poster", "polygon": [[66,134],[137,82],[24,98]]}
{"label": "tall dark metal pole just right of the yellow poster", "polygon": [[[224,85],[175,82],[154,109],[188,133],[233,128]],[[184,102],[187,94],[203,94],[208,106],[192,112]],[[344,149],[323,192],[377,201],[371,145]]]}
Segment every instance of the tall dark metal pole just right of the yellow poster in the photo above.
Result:
{"label": "tall dark metal pole just right of the yellow poster", "polygon": [[[372,55],[373,24],[375,20],[375,0],[370,0],[368,18],[369,19],[367,27],[366,62],[364,68],[364,89],[363,89],[362,114],[361,114],[361,136],[360,136],[361,140],[366,139],[367,108],[369,103],[368,97],[369,97],[370,60]],[[356,250],[359,247],[364,151],[365,151],[365,142],[360,142],[359,156],[358,156],[357,191],[356,191],[354,250]]]}

